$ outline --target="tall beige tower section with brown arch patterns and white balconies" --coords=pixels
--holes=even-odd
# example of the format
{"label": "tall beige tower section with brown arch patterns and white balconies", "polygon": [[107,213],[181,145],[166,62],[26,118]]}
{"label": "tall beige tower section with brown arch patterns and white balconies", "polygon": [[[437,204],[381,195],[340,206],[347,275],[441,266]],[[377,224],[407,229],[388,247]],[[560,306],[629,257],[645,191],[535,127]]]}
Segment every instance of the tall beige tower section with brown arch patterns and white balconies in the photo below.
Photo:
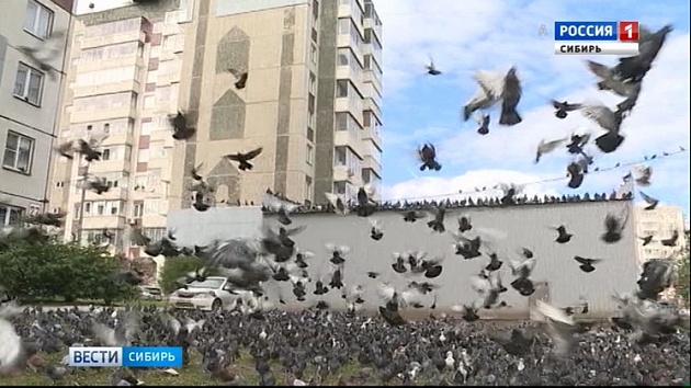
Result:
{"label": "tall beige tower section with brown arch patterns and white balconies", "polygon": [[[180,106],[197,134],[175,145],[171,209],[189,207],[190,170],[217,201],[354,197],[381,181],[382,23],[363,0],[195,1]],[[248,71],[237,90],[228,69]],[[263,147],[240,172],[224,155]],[[182,201],[177,201],[181,198]]]}

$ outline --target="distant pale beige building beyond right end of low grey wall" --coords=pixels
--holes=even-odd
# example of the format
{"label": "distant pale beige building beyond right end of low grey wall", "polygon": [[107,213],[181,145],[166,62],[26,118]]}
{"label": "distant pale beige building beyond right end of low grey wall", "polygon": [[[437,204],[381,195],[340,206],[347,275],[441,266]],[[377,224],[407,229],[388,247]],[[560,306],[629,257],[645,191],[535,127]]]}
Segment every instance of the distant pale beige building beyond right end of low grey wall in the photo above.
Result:
{"label": "distant pale beige building beyond right end of low grey wall", "polygon": [[[643,206],[635,207],[636,233],[643,238],[655,236],[653,242],[643,247],[638,241],[638,260],[644,263],[650,259],[665,259],[679,253],[686,247],[686,222],[681,207],[673,205],[658,205],[653,210],[645,210]],[[679,231],[676,247],[665,247],[659,240],[668,239],[673,230]]]}

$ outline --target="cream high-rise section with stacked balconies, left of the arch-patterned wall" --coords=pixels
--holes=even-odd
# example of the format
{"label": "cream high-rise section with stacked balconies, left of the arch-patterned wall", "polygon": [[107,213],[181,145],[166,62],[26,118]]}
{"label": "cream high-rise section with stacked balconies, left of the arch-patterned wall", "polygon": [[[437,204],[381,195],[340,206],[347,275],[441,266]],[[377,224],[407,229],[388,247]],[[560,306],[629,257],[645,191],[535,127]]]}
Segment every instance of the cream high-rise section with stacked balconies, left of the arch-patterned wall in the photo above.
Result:
{"label": "cream high-rise section with stacked balconies, left of the arch-patterned wall", "polygon": [[[181,25],[192,12],[189,1],[161,4],[83,14],[75,22],[58,140],[105,137],[103,155],[90,164],[56,158],[53,169],[50,207],[68,213],[66,237],[100,240],[106,229],[129,258],[140,248],[131,244],[128,230],[137,226],[160,238],[171,201],[174,140],[167,117],[178,110]],[[87,172],[111,190],[82,191]]]}

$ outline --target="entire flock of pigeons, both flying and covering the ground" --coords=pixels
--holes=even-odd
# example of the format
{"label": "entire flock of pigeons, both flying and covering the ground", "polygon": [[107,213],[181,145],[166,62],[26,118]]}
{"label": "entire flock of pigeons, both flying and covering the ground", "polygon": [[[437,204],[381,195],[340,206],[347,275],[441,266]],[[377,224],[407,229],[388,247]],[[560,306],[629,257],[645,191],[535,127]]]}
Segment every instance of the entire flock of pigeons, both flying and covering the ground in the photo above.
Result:
{"label": "entire flock of pigeons, both flying and covering the ground", "polygon": [[[602,152],[616,150],[624,141],[621,134],[623,119],[631,114],[641,92],[642,81],[650,69],[666,35],[671,27],[666,26],[656,33],[641,31],[641,54],[622,58],[613,68],[589,61],[589,68],[600,79],[601,90],[612,91],[625,100],[615,111],[594,104],[569,104],[554,101],[556,116],[564,118],[569,112],[580,111],[596,121],[604,130],[594,139],[594,145]],[[236,77],[235,87],[243,89],[248,73],[228,70]],[[431,62],[428,73],[441,75]],[[517,69],[506,75],[488,71],[476,73],[479,84],[477,94],[463,110],[467,121],[477,111],[488,111],[501,102],[499,124],[512,126],[522,118],[517,109],[522,90]],[[478,133],[489,132],[490,115],[484,113],[477,118]],[[170,117],[172,137],[188,140],[194,137],[193,118],[178,112]],[[107,134],[106,134],[107,136]],[[99,147],[104,140],[89,138],[60,145],[57,150],[69,159],[83,158],[88,163],[98,162],[102,152]],[[536,162],[540,158],[563,146],[569,139],[541,141],[537,147]],[[582,183],[588,168],[593,163],[586,146],[589,135],[573,135],[566,150],[576,156],[567,170],[570,175],[569,187],[577,189]],[[251,171],[252,160],[260,157],[262,148],[249,152],[236,152],[225,158],[237,162],[240,171]],[[433,145],[419,148],[420,170],[440,171]],[[215,201],[212,198],[215,187],[200,174],[202,166],[190,171],[193,185],[192,206],[199,212],[207,210]],[[639,169],[638,176],[633,174],[625,180],[634,180],[641,186],[649,185],[652,170]],[[106,181],[91,174],[83,176],[83,189],[103,194],[110,190]],[[494,203],[499,206],[518,204],[522,187],[501,185],[503,195]],[[356,202],[351,204],[344,196],[325,193],[329,209],[347,215],[354,213],[370,219],[370,238],[378,241],[384,230],[372,217],[378,205],[372,199],[372,190],[360,187]],[[644,194],[642,194],[644,195]],[[648,208],[657,205],[657,199],[644,195]],[[466,322],[457,324],[451,319],[433,319],[409,322],[401,316],[408,308],[426,307],[421,297],[437,289],[430,279],[443,271],[442,258],[427,258],[423,252],[396,253],[392,270],[396,274],[418,276],[407,287],[394,287],[389,283],[377,286],[382,298],[377,318],[365,319],[360,315],[359,306],[363,300],[363,285],[343,284],[343,266],[347,262],[348,247],[329,244],[328,262],[331,270],[328,277],[310,278],[307,269],[319,259],[297,248],[291,238],[306,226],[290,228],[293,220],[290,215],[299,209],[299,205],[281,198],[270,191],[263,195],[264,208],[276,215],[280,226],[273,229],[267,225],[259,238],[218,240],[206,247],[180,247],[175,243],[174,232],[169,232],[159,241],[151,241],[134,228],[132,239],[145,247],[149,255],[167,258],[181,254],[194,254],[206,260],[206,265],[181,279],[181,283],[202,282],[208,269],[215,269],[226,276],[234,286],[237,299],[225,310],[202,316],[199,311],[166,311],[156,309],[134,309],[111,311],[91,309],[82,312],[73,310],[42,311],[41,309],[19,308],[8,304],[0,309],[0,374],[22,373],[24,367],[39,368],[57,380],[77,373],[64,365],[49,365],[41,362],[43,353],[60,353],[65,346],[84,345],[127,345],[127,344],[170,344],[180,345],[185,354],[195,351],[202,355],[202,368],[215,379],[225,383],[247,383],[246,377],[229,372],[235,362],[245,353],[252,357],[260,385],[275,385],[274,368],[279,364],[286,374],[286,384],[320,384],[328,376],[339,376],[339,384],[367,385],[376,383],[401,383],[412,385],[424,380],[428,384],[446,385],[533,385],[533,384],[676,384],[688,378],[689,316],[675,306],[659,301],[659,294],[672,282],[673,264],[669,260],[655,260],[646,263],[638,281],[638,290],[634,295],[619,295],[622,315],[612,319],[613,329],[598,329],[592,332],[589,324],[577,322],[576,313],[588,312],[584,301],[577,308],[557,308],[539,301],[535,310],[545,318],[547,336],[532,324],[521,324],[510,331],[487,329],[480,320],[483,309],[501,307],[502,293],[509,289],[501,283],[498,270],[503,261],[494,250],[503,238],[503,232],[474,228],[469,217],[462,216],[455,230],[448,231],[445,213],[449,202],[431,203],[420,208],[401,210],[405,222],[426,219],[432,232],[449,232],[454,240],[455,254],[466,260],[480,256],[488,259],[483,271],[472,278],[473,288],[478,295],[471,306],[456,306],[453,311]],[[3,231],[3,239],[35,239],[45,236],[41,227],[31,225],[61,226],[64,215],[38,215],[37,219],[23,226],[14,226]],[[615,243],[622,239],[628,214],[607,215],[601,240]],[[467,232],[475,229],[474,236]],[[483,229],[483,230],[480,230]],[[566,226],[555,228],[556,243],[568,243],[571,235]],[[112,233],[104,230],[104,236]],[[678,232],[665,244],[676,246]],[[642,238],[649,243],[653,237]],[[535,292],[531,273],[536,264],[533,252],[519,248],[520,261],[510,261],[514,279],[510,286],[520,295],[530,296]],[[597,260],[574,258],[579,269],[586,273],[594,271]],[[141,278],[134,271],[118,274],[124,282],[139,284]],[[369,272],[371,279],[382,274]],[[329,306],[319,300],[315,306],[299,312],[279,312],[276,304],[285,304],[284,296],[275,295],[277,283],[292,285],[293,296],[297,301],[305,301],[309,284],[311,293],[320,296],[332,289],[340,290],[346,305],[341,308]],[[183,285],[184,286],[184,285]],[[272,295],[273,294],[273,295]],[[429,307],[435,310],[433,303]],[[680,333],[679,330],[686,330]],[[553,347],[553,352],[547,349]],[[646,347],[643,347],[646,346]],[[644,356],[645,354],[645,356]],[[683,356],[686,354],[687,356]],[[675,362],[670,364],[669,358]],[[190,356],[185,361],[192,362]],[[686,360],[686,361],[684,361]],[[271,363],[270,363],[271,362]],[[340,372],[344,366],[355,363],[359,372],[346,376]],[[667,367],[659,368],[666,364]],[[686,365],[680,365],[686,363]],[[647,365],[648,373],[642,373],[641,366]],[[585,366],[585,367],[584,367]],[[307,377],[306,370],[313,370]],[[174,370],[173,370],[174,372]],[[173,372],[167,372],[172,374]],[[135,375],[133,375],[133,373]],[[117,369],[110,383],[116,386],[138,385],[145,373]],[[177,372],[174,372],[177,373]],[[655,378],[655,379],[654,379]]]}

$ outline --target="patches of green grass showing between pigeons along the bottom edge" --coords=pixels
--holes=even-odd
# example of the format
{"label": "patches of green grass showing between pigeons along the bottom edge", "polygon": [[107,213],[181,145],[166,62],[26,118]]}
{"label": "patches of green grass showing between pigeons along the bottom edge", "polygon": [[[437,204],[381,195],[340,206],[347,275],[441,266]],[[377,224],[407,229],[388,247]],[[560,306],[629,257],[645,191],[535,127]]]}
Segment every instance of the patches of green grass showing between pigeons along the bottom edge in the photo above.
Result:
{"label": "patches of green grass showing between pigeons along the bottom edge", "polygon": [[[61,354],[57,355],[42,355],[49,364],[57,364],[63,358]],[[201,361],[202,357],[197,353],[193,353],[191,357],[191,364],[183,368],[178,368],[179,376],[170,376],[162,370],[141,370],[138,374],[138,378],[145,383],[146,386],[222,386],[228,385],[228,383],[214,379],[212,376],[202,372]],[[281,366],[276,363],[271,363],[274,377],[277,386],[285,386],[285,373]],[[113,373],[113,368],[90,368],[77,370],[71,375],[65,376],[58,380],[58,386],[109,386],[109,376]],[[248,354],[242,354],[241,358],[234,365],[228,367],[228,370],[233,372],[241,378],[247,385],[257,385],[258,375],[254,372],[254,363]],[[314,374],[314,367],[309,366],[305,370],[304,380],[308,380]],[[359,372],[356,365],[347,365],[342,367],[339,373],[344,379],[353,376]],[[322,385],[336,385],[338,376],[329,376]],[[52,385],[50,379],[42,372],[33,373],[27,370],[23,376],[18,377],[0,377],[0,386],[46,386]]]}

